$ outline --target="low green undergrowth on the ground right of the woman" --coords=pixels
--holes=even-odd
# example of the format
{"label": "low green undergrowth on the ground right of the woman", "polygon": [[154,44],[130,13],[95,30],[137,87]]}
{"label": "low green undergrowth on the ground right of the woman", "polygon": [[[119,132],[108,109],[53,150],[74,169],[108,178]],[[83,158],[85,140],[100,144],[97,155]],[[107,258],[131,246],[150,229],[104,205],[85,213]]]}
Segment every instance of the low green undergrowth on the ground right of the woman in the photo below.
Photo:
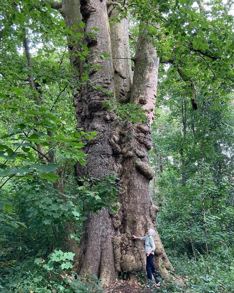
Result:
{"label": "low green undergrowth on the ground right of the woman", "polygon": [[157,292],[232,293],[234,292],[234,257],[231,249],[199,255],[196,259],[187,255],[170,258],[176,275],[185,280],[181,288],[176,281],[165,280]]}

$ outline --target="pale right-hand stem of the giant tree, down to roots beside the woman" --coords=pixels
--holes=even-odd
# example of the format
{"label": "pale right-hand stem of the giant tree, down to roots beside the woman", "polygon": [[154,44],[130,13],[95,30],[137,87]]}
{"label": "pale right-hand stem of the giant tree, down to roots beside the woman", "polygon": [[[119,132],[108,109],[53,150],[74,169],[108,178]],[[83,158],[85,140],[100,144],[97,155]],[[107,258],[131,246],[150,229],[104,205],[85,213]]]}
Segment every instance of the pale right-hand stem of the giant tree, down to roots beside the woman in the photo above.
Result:
{"label": "pale right-hand stem of the giant tree, down to roots beside the woman", "polygon": [[[147,30],[140,27],[137,49],[133,57],[135,62],[133,89],[131,93],[130,103],[142,105],[142,108],[148,110],[148,125],[137,124],[133,126],[133,139],[131,141],[132,150],[135,153],[135,166],[132,160],[126,160],[125,174],[122,176],[123,186],[128,190],[125,195],[125,204],[128,207],[125,210],[129,219],[128,229],[137,231],[142,234],[142,231],[147,231],[149,228],[155,227],[156,212],[159,209],[152,203],[149,181],[153,178],[153,171],[148,163],[147,152],[152,147],[151,123],[154,120],[154,108],[156,101],[157,83],[158,83],[158,67],[159,58],[157,57],[156,49],[152,46],[147,36]],[[125,178],[126,176],[126,178]],[[123,188],[123,190],[125,190]],[[130,196],[129,196],[130,195]],[[134,224],[132,215],[136,214],[137,221]],[[164,276],[167,276],[166,269],[173,270],[164,248],[162,246],[159,234],[155,236],[155,258],[154,262],[156,269]],[[141,244],[135,244],[138,253],[140,254],[141,262],[144,264],[145,255],[142,253]],[[133,251],[133,255],[136,254]],[[139,257],[135,257],[136,260]],[[137,263],[137,262],[136,262]],[[139,265],[139,264],[138,264]],[[137,268],[139,270],[139,267]]]}

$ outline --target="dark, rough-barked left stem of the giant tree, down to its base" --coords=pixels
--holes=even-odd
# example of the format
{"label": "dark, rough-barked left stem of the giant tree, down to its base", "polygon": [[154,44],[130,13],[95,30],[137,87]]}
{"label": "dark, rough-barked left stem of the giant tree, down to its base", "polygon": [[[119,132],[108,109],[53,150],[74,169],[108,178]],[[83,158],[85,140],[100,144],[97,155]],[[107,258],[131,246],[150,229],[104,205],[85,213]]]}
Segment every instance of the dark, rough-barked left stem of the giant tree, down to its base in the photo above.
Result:
{"label": "dark, rough-barked left stem of the giant tree, down to its base", "polygon": [[[92,54],[87,58],[87,63],[104,68],[90,70],[91,83],[100,85],[105,90],[114,93],[114,73],[106,1],[82,1],[80,11],[82,20],[86,24],[85,32],[94,33],[92,28],[99,28],[96,38],[87,39],[87,45],[92,50]],[[107,53],[111,57],[101,59],[98,56],[102,53]],[[115,159],[112,156],[112,147],[108,142],[114,129],[114,115],[102,108],[106,98],[104,93],[88,85],[82,87],[80,95],[74,96],[78,127],[84,128],[85,132],[98,132],[93,140],[87,142],[86,152],[89,156],[85,168],[79,164],[76,165],[76,173],[79,176],[91,175],[101,178],[106,173],[117,169]],[[99,214],[90,213],[84,222],[83,230],[85,233],[80,243],[79,273],[85,275],[91,272],[104,282],[110,282],[116,277],[116,270],[112,244],[114,229],[108,210],[102,209]]]}

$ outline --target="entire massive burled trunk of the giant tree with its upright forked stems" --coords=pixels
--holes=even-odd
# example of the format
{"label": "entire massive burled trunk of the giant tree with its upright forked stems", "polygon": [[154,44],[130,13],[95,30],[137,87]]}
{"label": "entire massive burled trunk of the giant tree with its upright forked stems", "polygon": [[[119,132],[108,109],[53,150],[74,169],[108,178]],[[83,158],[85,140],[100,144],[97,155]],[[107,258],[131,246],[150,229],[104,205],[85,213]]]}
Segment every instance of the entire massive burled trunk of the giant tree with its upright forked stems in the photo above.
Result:
{"label": "entire massive burled trunk of the giant tree with its upright forked stems", "polygon": [[[77,3],[73,1],[74,5]],[[149,181],[153,171],[148,163],[147,152],[152,145],[150,125],[154,118],[159,58],[148,40],[147,30],[141,26],[131,90],[128,18],[123,18],[121,23],[114,24],[110,30],[106,0],[81,0],[80,12],[86,33],[94,33],[92,28],[99,29],[97,37],[86,38],[86,44],[91,50],[86,63],[104,67],[100,70],[90,69],[91,83],[112,92],[121,102],[130,98],[130,103],[149,110],[147,124],[118,124],[115,114],[102,108],[104,100],[108,99],[103,92],[85,85],[80,94],[74,93],[78,127],[82,127],[85,132],[98,132],[93,140],[87,141],[87,164],[85,168],[76,164],[76,174],[100,178],[115,171],[121,178],[118,212],[113,215],[102,209],[98,214],[90,213],[84,222],[80,247],[74,251],[79,274],[94,273],[104,284],[110,284],[121,271],[141,271],[145,268],[144,244],[133,241],[132,234],[142,236],[149,228],[156,229],[156,212],[159,209],[150,196]],[[119,15],[116,9],[110,14]],[[69,26],[76,24],[69,19],[69,13],[64,18]],[[102,53],[111,57],[101,59],[99,56]],[[112,59],[113,56],[124,59]],[[154,240],[156,268],[167,276],[167,270],[173,268],[158,233]]]}

